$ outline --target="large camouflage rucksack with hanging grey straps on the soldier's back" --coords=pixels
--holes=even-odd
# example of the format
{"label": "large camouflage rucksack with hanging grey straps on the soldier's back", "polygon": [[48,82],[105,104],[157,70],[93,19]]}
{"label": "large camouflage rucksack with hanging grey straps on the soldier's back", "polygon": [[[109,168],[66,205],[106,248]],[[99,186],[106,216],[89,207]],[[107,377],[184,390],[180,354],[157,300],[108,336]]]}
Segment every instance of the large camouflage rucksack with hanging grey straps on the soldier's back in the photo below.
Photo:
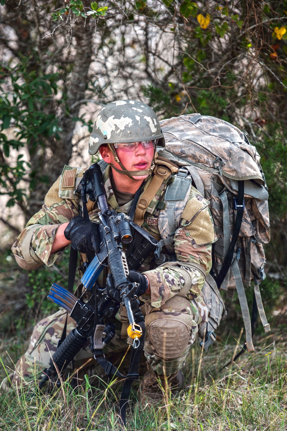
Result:
{"label": "large camouflage rucksack with hanging grey straps on the soldier's back", "polygon": [[[173,237],[179,223],[174,210],[178,201],[184,199],[187,191],[185,185],[188,184],[186,180],[191,176],[194,186],[210,201],[218,237],[213,245],[212,277],[207,277],[203,289],[210,308],[210,321],[205,328],[201,328],[201,336],[203,329],[212,335],[224,312],[217,287],[228,290],[229,297],[233,297],[236,288],[244,318],[247,349],[253,351],[250,315],[244,291],[244,284],[248,287],[253,280],[259,315],[265,332],[270,331],[259,290],[259,282],[265,278],[262,243],[270,240],[268,192],[259,164],[260,156],[237,127],[215,117],[191,114],[160,123],[166,147],[158,155],[170,159],[181,168],[172,187],[167,189],[167,206],[159,216],[159,228],[160,220],[167,220],[162,227],[161,234],[166,238],[162,244],[166,247],[171,244],[169,238]],[[239,221],[235,223],[237,214]],[[236,239],[236,235],[232,234],[236,230],[239,235],[232,250],[232,242]],[[225,268],[228,259],[230,265],[227,263],[228,268]],[[219,282],[222,276],[224,279]]]}

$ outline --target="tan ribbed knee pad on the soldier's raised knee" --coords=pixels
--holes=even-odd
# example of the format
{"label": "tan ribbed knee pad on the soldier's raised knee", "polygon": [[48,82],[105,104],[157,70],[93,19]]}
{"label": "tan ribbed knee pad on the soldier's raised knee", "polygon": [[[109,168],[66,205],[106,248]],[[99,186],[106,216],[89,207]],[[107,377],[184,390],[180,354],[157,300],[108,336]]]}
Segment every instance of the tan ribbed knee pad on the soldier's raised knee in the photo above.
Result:
{"label": "tan ribbed knee pad on the soldier's raised knee", "polygon": [[173,297],[164,304],[162,311],[145,316],[147,340],[153,353],[162,359],[179,358],[188,345],[194,320],[193,315],[182,312],[183,300]]}

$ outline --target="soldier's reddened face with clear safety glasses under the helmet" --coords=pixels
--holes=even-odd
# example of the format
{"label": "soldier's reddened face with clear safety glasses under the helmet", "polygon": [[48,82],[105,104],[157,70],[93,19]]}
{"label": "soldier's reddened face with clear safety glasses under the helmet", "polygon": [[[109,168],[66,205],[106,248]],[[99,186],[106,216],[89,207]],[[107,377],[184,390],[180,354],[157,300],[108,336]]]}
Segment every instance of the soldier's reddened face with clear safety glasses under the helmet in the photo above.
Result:
{"label": "soldier's reddened face with clear safety glasses under the helmet", "polygon": [[[154,158],[154,146],[150,145],[145,147],[141,142],[139,142],[135,149],[131,148],[127,150],[127,148],[116,148],[115,152],[127,171],[144,171],[145,169],[149,169]],[[111,163],[117,169],[122,170],[120,165],[115,162],[114,156],[108,146],[101,146],[100,153],[105,162]],[[139,175],[133,178],[136,180],[143,180],[147,177],[148,175]]]}

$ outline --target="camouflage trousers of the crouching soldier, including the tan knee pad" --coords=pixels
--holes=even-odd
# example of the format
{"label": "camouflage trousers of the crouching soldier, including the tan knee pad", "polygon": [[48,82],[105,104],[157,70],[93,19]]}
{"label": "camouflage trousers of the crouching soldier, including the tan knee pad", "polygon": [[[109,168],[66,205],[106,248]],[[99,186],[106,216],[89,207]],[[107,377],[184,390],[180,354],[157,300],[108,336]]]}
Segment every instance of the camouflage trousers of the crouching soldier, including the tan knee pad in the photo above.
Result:
{"label": "camouflage trousers of the crouching soldier, including the tan knee pad", "polygon": [[[173,297],[160,309],[145,306],[145,325],[147,328],[144,353],[145,358],[154,372],[159,375],[172,375],[185,365],[188,351],[198,332],[198,324],[206,321],[206,313],[196,312],[198,306],[186,306],[189,300]],[[195,304],[195,303],[194,303]],[[202,311],[202,310],[201,310]],[[25,382],[37,382],[42,370],[49,367],[49,361],[57,349],[66,320],[66,312],[58,312],[42,319],[34,327],[26,353],[15,365],[11,375],[12,385]],[[67,335],[76,327],[76,322],[68,316]],[[74,369],[80,375],[89,374],[95,370],[96,360],[89,349],[88,340],[74,357]],[[113,340],[103,349],[105,355],[120,353],[127,350],[127,339],[121,338],[116,330]],[[116,355],[117,359],[123,355]],[[114,360],[114,358],[113,358]],[[118,362],[119,365],[119,362]],[[99,369],[98,369],[99,370]],[[72,363],[65,370],[65,375],[72,371]],[[98,371],[94,371],[98,374]],[[99,375],[99,374],[98,374]]]}

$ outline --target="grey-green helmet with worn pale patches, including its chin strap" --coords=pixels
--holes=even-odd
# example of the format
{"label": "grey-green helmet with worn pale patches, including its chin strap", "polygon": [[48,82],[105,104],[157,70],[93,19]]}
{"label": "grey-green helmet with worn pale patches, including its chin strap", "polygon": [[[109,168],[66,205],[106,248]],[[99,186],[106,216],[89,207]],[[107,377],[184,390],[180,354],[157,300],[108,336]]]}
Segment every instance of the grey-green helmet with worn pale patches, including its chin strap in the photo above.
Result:
{"label": "grey-green helmet with worn pale patches, including its chin strap", "polygon": [[131,175],[146,175],[151,173],[154,164],[145,171],[127,171],[117,158],[113,144],[151,140],[157,142],[156,146],[165,146],[164,135],[153,109],[137,100],[116,100],[98,113],[89,138],[89,154],[96,154],[101,145],[107,144],[122,171],[114,166],[113,169],[130,178]]}

